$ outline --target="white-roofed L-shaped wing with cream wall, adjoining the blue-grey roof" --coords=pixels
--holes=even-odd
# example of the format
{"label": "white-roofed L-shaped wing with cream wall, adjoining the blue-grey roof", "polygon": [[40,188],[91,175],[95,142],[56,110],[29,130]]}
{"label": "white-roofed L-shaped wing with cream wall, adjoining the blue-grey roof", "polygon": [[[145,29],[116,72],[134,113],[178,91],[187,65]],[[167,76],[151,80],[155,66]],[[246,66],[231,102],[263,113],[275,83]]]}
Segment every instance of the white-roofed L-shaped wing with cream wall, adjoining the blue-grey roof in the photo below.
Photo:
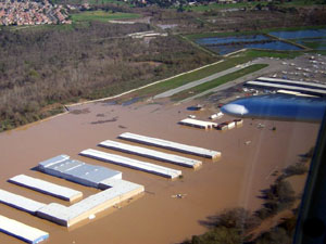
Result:
{"label": "white-roofed L-shaped wing with cream wall, adjoining the blue-grey roof", "polygon": [[71,227],[91,215],[143,192],[143,187],[125,180],[105,179],[99,183],[101,191],[71,206],[43,204],[0,189],[0,202],[61,226]]}

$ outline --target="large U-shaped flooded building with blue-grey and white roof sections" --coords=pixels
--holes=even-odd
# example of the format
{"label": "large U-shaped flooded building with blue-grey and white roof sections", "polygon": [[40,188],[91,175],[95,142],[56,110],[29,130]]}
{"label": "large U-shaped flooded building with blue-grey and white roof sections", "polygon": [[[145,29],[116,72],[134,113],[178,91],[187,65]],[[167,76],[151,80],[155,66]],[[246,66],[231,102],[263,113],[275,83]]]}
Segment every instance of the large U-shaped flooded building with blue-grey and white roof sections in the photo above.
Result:
{"label": "large U-shaped flooded building with blue-grey and white roof sections", "polygon": [[[145,190],[143,185],[122,180],[120,171],[73,160],[67,155],[41,162],[38,168],[49,175],[103,190],[76,204],[65,206],[57,203],[40,203],[0,189],[1,203],[65,227],[88,219]],[[24,181],[24,183],[30,182]],[[34,180],[32,184],[35,184]]]}

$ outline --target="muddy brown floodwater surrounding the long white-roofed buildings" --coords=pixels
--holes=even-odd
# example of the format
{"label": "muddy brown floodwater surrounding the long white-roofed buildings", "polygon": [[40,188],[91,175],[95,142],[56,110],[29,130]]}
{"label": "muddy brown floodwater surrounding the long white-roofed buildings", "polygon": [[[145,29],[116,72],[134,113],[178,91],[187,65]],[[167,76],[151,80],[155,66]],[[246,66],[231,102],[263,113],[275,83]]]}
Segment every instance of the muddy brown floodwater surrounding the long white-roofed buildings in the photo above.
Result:
{"label": "muddy brown floodwater surrounding the long white-roofed buildings", "polygon": [[[121,170],[124,179],[143,184],[146,193],[130,204],[124,204],[120,209],[113,208],[93,220],[88,220],[86,224],[70,230],[2,204],[0,214],[48,231],[50,239],[47,243],[53,244],[177,243],[192,234],[204,232],[205,228],[200,226],[199,220],[204,220],[218,210],[236,206],[252,210],[260,207],[262,202],[258,196],[262,189],[274,181],[272,172],[299,160],[299,155],[314,145],[318,131],[317,124],[251,119],[246,119],[241,128],[225,132],[204,131],[177,125],[178,120],[195,114],[186,110],[189,105],[88,104],[75,107],[85,113],[66,114],[1,133],[1,189],[45,203],[57,202],[68,205],[64,201],[7,182],[10,177],[26,174],[80,190],[85,196],[96,193],[98,191],[96,189],[30,170],[40,160],[67,154],[89,164]],[[210,114],[212,111],[208,110],[196,113],[202,119],[206,119]],[[225,116],[220,121],[227,119],[229,118]],[[265,127],[258,128],[259,124]],[[276,127],[276,131],[272,130],[273,127]],[[89,147],[113,152],[98,147],[97,143],[108,139],[118,140],[116,137],[125,131],[221,151],[222,158],[218,162],[202,159],[203,166],[199,170],[192,170],[114,152],[181,169],[184,178],[171,181],[78,156],[80,151]],[[172,197],[177,193],[186,194],[185,198]],[[20,241],[0,234],[0,243],[20,243]]]}

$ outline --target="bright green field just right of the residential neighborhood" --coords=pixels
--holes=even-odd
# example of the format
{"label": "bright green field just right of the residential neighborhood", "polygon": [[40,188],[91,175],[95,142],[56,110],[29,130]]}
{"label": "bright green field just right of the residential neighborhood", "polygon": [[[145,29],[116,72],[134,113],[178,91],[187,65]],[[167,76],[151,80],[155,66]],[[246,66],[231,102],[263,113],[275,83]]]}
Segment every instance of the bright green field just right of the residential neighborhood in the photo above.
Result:
{"label": "bright green field just right of the residential neighborhood", "polygon": [[72,14],[71,18],[73,22],[108,22],[113,20],[124,20],[124,18],[137,18],[140,17],[139,14],[135,13],[112,13],[105,11],[85,11],[78,14]]}

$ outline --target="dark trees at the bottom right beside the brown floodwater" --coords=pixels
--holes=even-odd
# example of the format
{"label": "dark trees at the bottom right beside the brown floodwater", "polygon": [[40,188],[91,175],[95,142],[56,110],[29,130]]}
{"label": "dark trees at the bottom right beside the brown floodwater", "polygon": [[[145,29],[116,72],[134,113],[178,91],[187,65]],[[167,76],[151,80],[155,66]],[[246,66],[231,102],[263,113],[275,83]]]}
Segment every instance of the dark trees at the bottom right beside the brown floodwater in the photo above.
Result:
{"label": "dark trees at the bottom right beside the brown floodwater", "polygon": [[[209,228],[209,231],[201,235],[193,235],[181,244],[291,244],[298,218],[294,202],[300,200],[301,195],[296,194],[287,178],[308,172],[313,151],[312,147],[298,163],[286,167],[268,189],[262,190],[261,198],[264,202],[261,208],[251,213],[237,207],[210,216],[206,220],[200,221],[202,226]],[[274,172],[275,176],[277,174]],[[259,228],[264,220],[286,209],[292,211],[291,217],[281,219],[268,231],[252,236],[251,231]]]}

